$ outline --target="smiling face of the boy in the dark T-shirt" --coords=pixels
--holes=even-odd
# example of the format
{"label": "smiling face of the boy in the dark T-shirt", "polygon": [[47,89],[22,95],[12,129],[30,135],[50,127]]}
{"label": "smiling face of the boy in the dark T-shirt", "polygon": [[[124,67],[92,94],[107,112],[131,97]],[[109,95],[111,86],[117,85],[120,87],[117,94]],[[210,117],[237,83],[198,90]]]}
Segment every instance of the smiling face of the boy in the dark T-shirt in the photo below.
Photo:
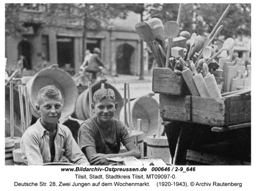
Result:
{"label": "smiling face of the boy in the dark T-shirt", "polygon": [[99,124],[109,122],[115,114],[118,104],[112,98],[104,98],[92,104],[93,112],[96,113]]}

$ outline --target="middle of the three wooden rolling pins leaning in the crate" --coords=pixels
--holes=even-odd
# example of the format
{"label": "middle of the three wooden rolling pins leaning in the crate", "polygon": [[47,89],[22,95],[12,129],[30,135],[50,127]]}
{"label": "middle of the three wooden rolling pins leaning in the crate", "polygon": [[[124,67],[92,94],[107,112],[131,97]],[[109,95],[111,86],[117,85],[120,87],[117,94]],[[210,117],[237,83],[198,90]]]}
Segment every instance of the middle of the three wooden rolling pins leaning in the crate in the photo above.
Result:
{"label": "middle of the three wooden rolling pins leaning in the crate", "polygon": [[193,62],[190,63],[192,71],[194,72],[193,80],[198,89],[198,92],[201,97],[210,97],[209,91],[204,81],[204,77],[201,73],[198,73],[195,69],[195,64]]}

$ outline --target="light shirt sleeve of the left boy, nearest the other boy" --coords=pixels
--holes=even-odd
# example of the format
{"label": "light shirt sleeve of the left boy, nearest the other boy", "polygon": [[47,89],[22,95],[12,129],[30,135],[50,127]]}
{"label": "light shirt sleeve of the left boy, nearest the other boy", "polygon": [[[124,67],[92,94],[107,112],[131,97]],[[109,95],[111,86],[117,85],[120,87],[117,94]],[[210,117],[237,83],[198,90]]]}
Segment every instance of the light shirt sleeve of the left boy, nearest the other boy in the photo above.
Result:
{"label": "light shirt sleeve of the left boy, nearest the other boy", "polygon": [[65,156],[70,160],[70,162],[75,163],[76,165],[90,165],[69,129],[67,129],[66,135]]}

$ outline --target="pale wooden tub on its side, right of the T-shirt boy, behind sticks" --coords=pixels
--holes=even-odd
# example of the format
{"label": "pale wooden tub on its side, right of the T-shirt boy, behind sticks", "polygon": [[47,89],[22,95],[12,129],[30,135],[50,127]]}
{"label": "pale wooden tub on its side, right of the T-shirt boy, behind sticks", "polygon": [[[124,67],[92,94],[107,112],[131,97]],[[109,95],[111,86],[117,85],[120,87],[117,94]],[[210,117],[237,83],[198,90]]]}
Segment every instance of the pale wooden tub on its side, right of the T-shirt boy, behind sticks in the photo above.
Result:
{"label": "pale wooden tub on its side, right of the T-shirt boy, behind sticks", "polygon": [[[141,119],[141,130],[143,131],[143,141],[147,142],[147,137],[158,133],[158,114],[159,104],[150,96],[142,96],[134,99],[131,104],[131,119],[134,129],[137,130],[137,119]],[[126,106],[128,113],[128,103]],[[124,107],[122,107],[120,113],[120,121],[125,122]],[[128,120],[129,124],[129,120]],[[131,126],[129,124],[129,126]],[[161,126],[161,133],[163,133],[164,127]]]}

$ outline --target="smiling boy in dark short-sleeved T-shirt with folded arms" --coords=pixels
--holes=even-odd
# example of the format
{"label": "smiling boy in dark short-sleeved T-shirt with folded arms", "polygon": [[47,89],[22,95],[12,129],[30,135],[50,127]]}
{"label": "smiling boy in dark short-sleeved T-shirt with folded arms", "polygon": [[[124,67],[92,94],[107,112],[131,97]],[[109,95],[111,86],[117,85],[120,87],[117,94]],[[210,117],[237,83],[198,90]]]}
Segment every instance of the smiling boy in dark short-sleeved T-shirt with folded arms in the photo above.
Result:
{"label": "smiling boy in dark short-sleeved T-shirt with folded arms", "polygon": [[[139,159],[140,151],[129,136],[127,127],[113,119],[118,107],[114,91],[97,90],[91,107],[96,116],[87,119],[79,129],[80,148],[90,165],[109,165],[107,157],[134,156]],[[119,153],[121,142],[128,152]]]}

